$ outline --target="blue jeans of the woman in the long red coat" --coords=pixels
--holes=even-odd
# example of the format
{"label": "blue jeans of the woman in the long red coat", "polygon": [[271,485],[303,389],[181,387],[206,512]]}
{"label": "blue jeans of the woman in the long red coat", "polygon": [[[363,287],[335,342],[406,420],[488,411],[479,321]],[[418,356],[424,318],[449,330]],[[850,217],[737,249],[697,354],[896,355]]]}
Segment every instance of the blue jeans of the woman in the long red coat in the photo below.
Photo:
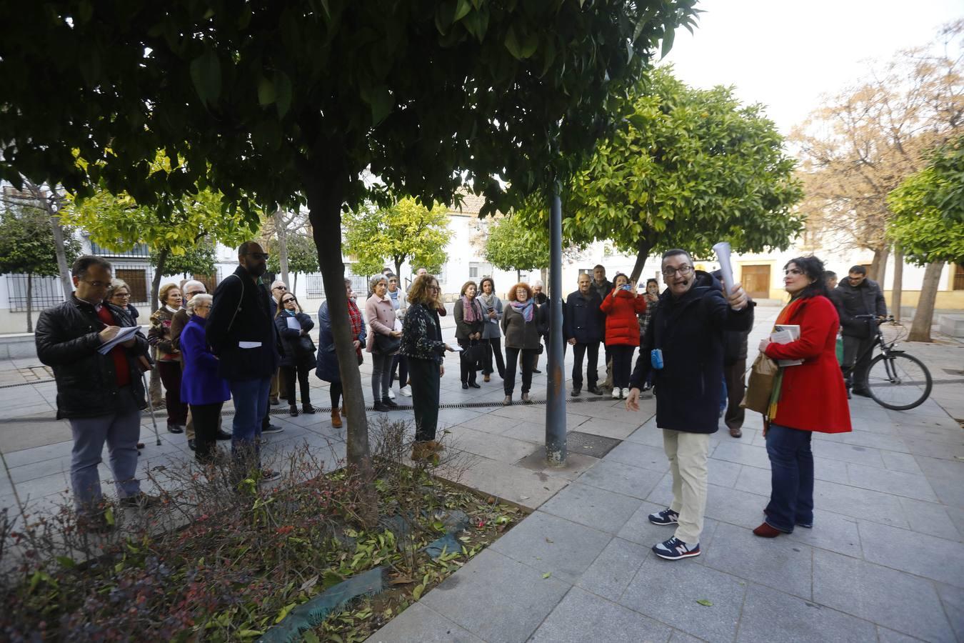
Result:
{"label": "blue jeans of the woman in the long red coat", "polygon": [[766,523],[786,533],[794,524],[814,523],[814,452],[810,450],[813,433],[770,424],[766,433],[766,453],[770,456],[770,502]]}

